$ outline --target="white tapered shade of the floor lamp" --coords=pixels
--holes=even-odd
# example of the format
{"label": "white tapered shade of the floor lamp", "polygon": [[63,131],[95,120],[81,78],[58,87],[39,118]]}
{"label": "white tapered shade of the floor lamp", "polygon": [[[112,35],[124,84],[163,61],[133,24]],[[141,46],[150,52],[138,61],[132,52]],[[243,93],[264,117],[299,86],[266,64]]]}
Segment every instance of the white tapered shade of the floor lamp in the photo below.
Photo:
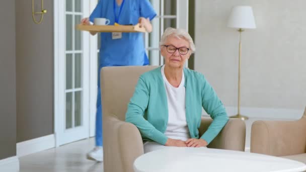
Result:
{"label": "white tapered shade of the floor lamp", "polygon": [[234,7],[228,18],[227,27],[241,29],[255,29],[253,10],[250,6]]}

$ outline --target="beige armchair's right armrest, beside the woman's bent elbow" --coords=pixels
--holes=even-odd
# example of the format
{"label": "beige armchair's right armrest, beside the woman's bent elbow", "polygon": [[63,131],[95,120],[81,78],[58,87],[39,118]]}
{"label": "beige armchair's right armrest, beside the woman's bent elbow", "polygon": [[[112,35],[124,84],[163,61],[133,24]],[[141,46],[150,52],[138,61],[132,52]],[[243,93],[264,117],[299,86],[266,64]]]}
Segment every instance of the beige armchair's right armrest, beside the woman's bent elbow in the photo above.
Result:
{"label": "beige armchair's right armrest, beside the woman's bent elbow", "polygon": [[[202,117],[199,128],[200,136],[207,130],[212,119]],[[228,150],[245,150],[246,124],[240,119],[230,119],[220,133],[209,143],[207,147]]]}

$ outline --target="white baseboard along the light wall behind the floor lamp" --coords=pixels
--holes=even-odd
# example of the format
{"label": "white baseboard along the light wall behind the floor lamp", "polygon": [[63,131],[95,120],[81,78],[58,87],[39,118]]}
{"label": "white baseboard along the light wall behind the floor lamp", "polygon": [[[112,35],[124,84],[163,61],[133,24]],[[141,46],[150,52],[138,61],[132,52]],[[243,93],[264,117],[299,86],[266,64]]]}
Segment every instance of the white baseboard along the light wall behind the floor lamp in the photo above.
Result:
{"label": "white baseboard along the light wall behind the floor lamp", "polygon": [[[237,114],[237,107],[225,107],[228,116],[234,116]],[[251,118],[270,118],[270,119],[299,119],[303,115],[303,110],[296,109],[269,109],[269,108],[248,108],[241,107],[240,112],[242,115]],[[205,111],[202,115],[207,116]]]}

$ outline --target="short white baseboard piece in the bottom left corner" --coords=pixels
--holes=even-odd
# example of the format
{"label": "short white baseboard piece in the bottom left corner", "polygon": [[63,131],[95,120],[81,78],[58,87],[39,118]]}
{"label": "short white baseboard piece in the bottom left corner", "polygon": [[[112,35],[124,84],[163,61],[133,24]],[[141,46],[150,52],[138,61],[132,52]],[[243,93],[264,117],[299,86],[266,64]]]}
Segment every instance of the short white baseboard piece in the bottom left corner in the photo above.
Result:
{"label": "short white baseboard piece in the bottom left corner", "polygon": [[0,160],[0,171],[19,171],[19,159],[17,156]]}

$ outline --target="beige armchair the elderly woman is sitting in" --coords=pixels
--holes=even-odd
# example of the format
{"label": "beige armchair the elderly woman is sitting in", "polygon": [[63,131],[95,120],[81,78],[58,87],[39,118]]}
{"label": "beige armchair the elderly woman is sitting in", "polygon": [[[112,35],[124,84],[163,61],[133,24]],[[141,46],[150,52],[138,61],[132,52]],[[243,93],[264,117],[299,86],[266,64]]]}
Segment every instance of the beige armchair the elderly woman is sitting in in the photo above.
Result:
{"label": "beige armchair the elderly woman is sitting in", "polygon": [[[101,92],[103,109],[103,150],[105,172],[132,172],[134,160],[143,154],[143,144],[136,126],[125,122],[127,104],[138,77],[157,66],[103,67]],[[203,118],[200,134],[211,119]],[[208,147],[244,151],[244,121],[231,119]]]}

